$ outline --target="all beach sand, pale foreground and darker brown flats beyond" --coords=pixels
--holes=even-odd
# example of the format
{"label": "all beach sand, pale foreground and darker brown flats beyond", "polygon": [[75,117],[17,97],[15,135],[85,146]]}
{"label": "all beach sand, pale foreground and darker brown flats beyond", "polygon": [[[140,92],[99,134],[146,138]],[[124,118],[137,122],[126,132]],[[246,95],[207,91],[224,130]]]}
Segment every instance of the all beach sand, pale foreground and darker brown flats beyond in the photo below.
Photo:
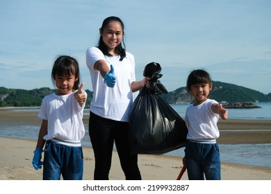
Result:
{"label": "all beach sand, pale foreground and darker brown flats beyond", "polygon": [[[32,123],[40,125],[36,112],[10,112],[9,109],[0,109],[1,123],[16,122],[21,125]],[[84,118],[88,123],[88,118]],[[218,143],[271,143],[271,121],[220,121],[221,130]],[[258,132],[247,132],[247,129],[256,129]],[[227,132],[228,129],[244,130],[244,132]],[[224,130],[224,132],[223,132]],[[266,131],[265,131],[266,130]],[[31,164],[36,140],[14,139],[0,137],[0,180],[41,180],[42,170],[35,170]],[[93,179],[94,155],[92,148],[83,147],[84,180]],[[176,180],[182,167],[181,157],[167,155],[139,155],[138,165],[143,180]],[[113,163],[110,170],[111,180],[123,180],[124,174],[120,168],[117,152],[113,153]],[[185,172],[183,180],[187,180]],[[271,180],[271,168],[242,166],[222,163],[223,180]]]}

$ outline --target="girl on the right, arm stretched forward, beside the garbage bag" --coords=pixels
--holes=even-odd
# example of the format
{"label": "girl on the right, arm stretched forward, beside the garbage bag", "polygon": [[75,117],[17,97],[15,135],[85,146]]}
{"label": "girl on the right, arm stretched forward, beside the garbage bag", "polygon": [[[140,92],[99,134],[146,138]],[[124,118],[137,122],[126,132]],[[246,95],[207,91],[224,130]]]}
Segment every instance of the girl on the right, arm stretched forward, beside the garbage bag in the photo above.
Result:
{"label": "girl on the right, arm stretched forward, beside the garbage bag", "polygon": [[212,87],[211,78],[204,70],[192,71],[188,76],[187,89],[195,103],[186,109],[188,142],[184,166],[187,166],[191,180],[202,180],[204,175],[208,180],[221,179],[217,121],[219,117],[227,119],[228,112],[217,101],[208,98]]}

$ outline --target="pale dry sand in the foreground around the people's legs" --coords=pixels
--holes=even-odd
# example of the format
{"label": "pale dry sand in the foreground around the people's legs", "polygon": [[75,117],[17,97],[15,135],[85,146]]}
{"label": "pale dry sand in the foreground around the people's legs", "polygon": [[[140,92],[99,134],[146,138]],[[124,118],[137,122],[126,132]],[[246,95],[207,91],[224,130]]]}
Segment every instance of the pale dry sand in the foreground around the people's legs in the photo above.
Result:
{"label": "pale dry sand in the foreground around the people's legs", "polygon": [[[34,170],[31,161],[36,141],[0,137],[0,180],[41,180],[42,170]],[[94,154],[83,146],[83,179],[93,179]],[[176,180],[183,166],[182,157],[169,155],[138,155],[143,180]],[[222,162],[222,180],[271,180],[271,168],[229,164]],[[117,152],[113,151],[110,180],[124,180]],[[187,173],[181,180],[188,180]]]}

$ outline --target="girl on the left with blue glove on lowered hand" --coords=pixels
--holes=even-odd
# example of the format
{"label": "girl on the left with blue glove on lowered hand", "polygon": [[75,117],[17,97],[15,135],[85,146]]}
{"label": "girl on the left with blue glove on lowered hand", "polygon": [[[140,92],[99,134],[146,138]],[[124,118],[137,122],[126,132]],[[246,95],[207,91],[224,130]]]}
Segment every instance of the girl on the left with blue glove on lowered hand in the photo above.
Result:
{"label": "girl on the left with blue glove on lowered hand", "polygon": [[[69,56],[60,56],[54,62],[51,78],[58,89],[45,96],[40,113],[42,125],[34,151],[35,170],[43,168],[43,179],[83,179],[83,152],[81,139],[85,134],[83,109],[87,94],[83,84],[79,88],[78,62]],[[44,144],[45,149],[42,150]],[[44,151],[44,161],[42,152]]]}

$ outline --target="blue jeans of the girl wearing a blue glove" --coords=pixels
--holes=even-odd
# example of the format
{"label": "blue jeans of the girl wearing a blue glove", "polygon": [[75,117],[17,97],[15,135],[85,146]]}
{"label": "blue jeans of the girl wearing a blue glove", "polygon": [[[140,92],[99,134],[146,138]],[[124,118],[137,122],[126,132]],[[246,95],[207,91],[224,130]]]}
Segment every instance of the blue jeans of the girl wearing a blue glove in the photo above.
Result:
{"label": "blue jeans of the girl wearing a blue glove", "polygon": [[43,179],[83,179],[82,147],[72,147],[47,141],[44,150]]}

